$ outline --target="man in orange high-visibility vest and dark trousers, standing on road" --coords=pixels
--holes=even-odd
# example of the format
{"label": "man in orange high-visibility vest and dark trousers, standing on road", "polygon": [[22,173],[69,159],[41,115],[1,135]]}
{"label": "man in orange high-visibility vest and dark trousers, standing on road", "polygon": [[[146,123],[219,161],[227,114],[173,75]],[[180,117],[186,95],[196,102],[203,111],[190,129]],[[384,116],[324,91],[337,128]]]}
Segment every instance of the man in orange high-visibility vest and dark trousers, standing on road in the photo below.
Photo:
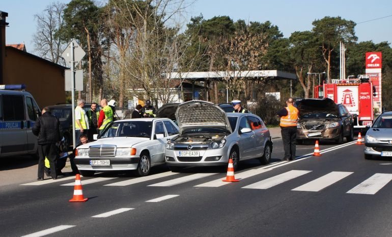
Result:
{"label": "man in orange high-visibility vest and dark trousers, standing on road", "polygon": [[285,149],[283,160],[294,160],[299,112],[298,109],[294,107],[293,98],[287,99],[286,104],[287,107],[277,112],[277,115],[281,117],[281,123],[279,125],[281,125],[282,128],[282,141],[283,148]]}

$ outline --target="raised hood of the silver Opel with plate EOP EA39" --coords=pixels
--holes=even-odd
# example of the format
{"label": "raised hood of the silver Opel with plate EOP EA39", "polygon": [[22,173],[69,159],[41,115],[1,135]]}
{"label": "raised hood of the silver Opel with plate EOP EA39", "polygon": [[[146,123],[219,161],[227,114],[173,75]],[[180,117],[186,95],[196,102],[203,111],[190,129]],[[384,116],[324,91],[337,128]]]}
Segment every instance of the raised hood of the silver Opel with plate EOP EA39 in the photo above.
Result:
{"label": "raised hood of the silver Opel with plate EOP EA39", "polygon": [[176,111],[176,119],[180,133],[186,129],[200,127],[222,128],[232,132],[225,111],[203,100],[191,100],[180,104]]}

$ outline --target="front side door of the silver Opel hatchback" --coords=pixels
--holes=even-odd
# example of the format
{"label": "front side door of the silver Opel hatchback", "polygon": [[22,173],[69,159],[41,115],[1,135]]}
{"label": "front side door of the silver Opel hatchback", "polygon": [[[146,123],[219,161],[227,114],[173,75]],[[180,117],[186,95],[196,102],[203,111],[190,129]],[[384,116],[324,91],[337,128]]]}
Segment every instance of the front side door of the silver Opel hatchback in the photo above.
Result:
{"label": "front side door of the silver Opel hatchback", "polygon": [[240,159],[252,157],[256,146],[255,132],[250,131],[241,133],[242,128],[250,128],[250,124],[246,116],[241,117],[238,124]]}

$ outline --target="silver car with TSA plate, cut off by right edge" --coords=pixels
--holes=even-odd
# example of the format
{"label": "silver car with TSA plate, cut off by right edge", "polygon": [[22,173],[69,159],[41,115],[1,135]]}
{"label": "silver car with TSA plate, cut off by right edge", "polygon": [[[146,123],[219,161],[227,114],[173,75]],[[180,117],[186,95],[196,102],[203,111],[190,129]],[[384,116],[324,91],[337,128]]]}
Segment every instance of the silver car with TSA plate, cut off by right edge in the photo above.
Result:
{"label": "silver car with TSA plate, cut off by right edge", "polygon": [[392,158],[392,112],[384,112],[374,121],[365,136],[365,159],[373,155]]}

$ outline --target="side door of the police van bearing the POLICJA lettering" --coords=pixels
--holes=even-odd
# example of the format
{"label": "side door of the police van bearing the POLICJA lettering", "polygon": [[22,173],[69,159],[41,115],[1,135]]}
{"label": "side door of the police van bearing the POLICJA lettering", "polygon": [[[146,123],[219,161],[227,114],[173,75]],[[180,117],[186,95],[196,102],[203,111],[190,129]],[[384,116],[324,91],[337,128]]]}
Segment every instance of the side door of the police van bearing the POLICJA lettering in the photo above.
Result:
{"label": "side door of the police van bearing the POLICJA lettering", "polygon": [[24,154],[27,151],[24,95],[3,94],[1,104],[3,113],[0,118],[2,137],[0,154],[2,156]]}

